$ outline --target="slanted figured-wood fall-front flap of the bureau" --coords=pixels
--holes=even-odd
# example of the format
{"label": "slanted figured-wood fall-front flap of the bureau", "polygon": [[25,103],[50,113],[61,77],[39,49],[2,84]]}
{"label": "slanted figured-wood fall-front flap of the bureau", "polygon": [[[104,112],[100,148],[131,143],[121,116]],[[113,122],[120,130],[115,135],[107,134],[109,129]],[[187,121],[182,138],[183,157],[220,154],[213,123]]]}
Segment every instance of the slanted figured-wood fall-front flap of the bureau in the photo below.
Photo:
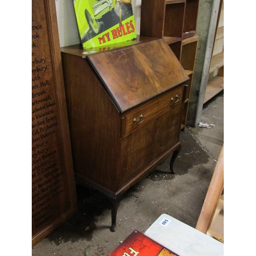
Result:
{"label": "slanted figured-wood fall-front flap of the bureau", "polygon": [[87,58],[121,113],[189,79],[164,39]]}

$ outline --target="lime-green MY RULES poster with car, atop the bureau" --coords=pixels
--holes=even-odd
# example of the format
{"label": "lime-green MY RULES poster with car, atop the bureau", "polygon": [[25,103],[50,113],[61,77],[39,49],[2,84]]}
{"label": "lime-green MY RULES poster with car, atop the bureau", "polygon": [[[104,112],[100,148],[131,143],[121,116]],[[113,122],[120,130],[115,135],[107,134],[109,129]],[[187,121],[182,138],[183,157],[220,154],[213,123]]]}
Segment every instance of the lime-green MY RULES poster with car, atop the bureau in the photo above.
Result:
{"label": "lime-green MY RULES poster with car, atop the bureau", "polygon": [[83,49],[136,40],[131,0],[74,0]]}

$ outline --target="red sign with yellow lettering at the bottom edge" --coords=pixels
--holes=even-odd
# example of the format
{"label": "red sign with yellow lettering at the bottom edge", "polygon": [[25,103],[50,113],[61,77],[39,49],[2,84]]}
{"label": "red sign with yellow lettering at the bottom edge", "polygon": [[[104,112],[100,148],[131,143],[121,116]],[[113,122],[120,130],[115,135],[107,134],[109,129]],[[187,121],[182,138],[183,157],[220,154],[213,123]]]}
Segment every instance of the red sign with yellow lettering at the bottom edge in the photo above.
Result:
{"label": "red sign with yellow lettering at the bottom edge", "polygon": [[135,230],[108,256],[179,256]]}

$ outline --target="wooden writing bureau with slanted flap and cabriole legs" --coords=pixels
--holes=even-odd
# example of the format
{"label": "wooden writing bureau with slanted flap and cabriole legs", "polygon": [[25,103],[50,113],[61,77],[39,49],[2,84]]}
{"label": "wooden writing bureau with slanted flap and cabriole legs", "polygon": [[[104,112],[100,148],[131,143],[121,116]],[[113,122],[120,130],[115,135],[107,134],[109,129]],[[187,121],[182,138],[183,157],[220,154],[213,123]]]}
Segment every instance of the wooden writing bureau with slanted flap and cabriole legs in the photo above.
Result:
{"label": "wooden writing bureau with slanted flap and cabriole legs", "polygon": [[94,54],[61,49],[77,182],[119,202],[158,161],[180,150],[189,79],[163,39]]}

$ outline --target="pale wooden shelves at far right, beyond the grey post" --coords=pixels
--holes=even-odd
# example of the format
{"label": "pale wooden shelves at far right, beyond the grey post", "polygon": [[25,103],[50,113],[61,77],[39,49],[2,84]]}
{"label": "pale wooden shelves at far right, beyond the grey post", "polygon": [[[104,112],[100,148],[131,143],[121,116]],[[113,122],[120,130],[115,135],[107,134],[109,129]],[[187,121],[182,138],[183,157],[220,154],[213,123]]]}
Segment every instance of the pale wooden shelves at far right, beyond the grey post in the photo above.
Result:
{"label": "pale wooden shelves at far right, beyond the grey post", "polygon": [[205,90],[204,103],[224,90],[224,1],[220,3],[218,26],[216,29],[214,50],[208,73],[208,83]]}

